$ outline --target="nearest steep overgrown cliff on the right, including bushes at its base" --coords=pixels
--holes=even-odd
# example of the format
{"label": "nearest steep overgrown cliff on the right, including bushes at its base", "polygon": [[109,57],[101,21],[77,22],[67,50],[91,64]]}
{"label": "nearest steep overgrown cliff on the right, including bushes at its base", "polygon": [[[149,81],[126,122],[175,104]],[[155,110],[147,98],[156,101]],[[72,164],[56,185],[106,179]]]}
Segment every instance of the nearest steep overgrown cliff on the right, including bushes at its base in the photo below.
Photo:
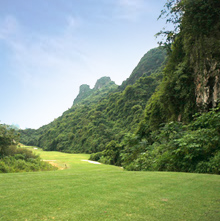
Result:
{"label": "nearest steep overgrown cliff on the right, including bushes at its base", "polygon": [[163,79],[135,133],[91,159],[128,170],[220,173],[220,2],[166,3]]}

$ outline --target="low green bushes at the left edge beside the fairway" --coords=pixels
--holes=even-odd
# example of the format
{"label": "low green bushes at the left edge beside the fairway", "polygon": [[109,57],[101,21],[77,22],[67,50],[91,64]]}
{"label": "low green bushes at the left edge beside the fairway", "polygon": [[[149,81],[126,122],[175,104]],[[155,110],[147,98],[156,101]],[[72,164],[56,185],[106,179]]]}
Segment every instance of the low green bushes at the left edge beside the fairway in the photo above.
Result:
{"label": "low green bushes at the left edge beside the fairway", "polygon": [[30,150],[17,147],[18,131],[0,125],[0,173],[55,170]]}

